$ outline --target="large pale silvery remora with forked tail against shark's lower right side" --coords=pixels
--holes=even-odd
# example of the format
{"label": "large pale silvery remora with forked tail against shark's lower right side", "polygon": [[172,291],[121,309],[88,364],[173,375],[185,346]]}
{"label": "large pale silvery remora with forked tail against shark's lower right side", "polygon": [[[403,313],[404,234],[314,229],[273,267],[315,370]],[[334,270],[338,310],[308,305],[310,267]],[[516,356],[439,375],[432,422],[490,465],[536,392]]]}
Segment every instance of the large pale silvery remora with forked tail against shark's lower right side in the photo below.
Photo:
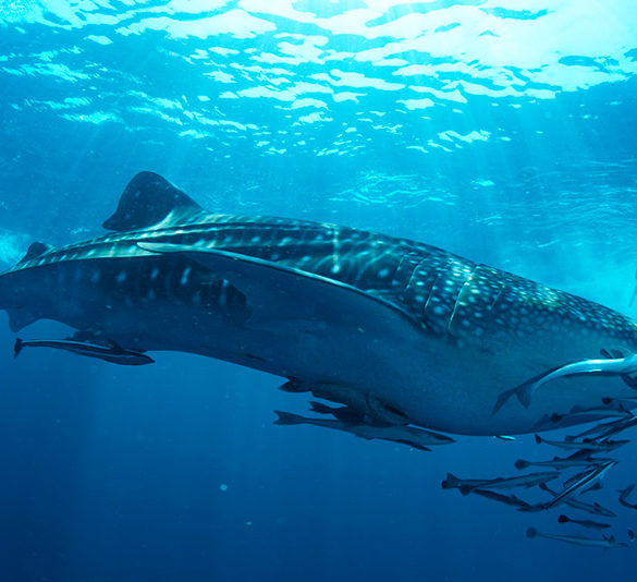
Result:
{"label": "large pale silvery remora with forked tail against shark's lower right side", "polygon": [[[602,351],[603,355],[615,355],[618,353],[616,351]],[[623,351],[621,353],[627,352]],[[634,380],[636,373],[637,354],[607,360],[581,360],[580,362],[573,362],[540,374],[511,390],[505,390],[498,397],[491,415],[495,414],[513,395],[517,397],[525,409],[528,409],[536,390],[540,386],[558,378],[569,378],[573,376],[620,376],[628,386],[633,386],[630,384],[633,381],[637,385],[637,380]]]}

